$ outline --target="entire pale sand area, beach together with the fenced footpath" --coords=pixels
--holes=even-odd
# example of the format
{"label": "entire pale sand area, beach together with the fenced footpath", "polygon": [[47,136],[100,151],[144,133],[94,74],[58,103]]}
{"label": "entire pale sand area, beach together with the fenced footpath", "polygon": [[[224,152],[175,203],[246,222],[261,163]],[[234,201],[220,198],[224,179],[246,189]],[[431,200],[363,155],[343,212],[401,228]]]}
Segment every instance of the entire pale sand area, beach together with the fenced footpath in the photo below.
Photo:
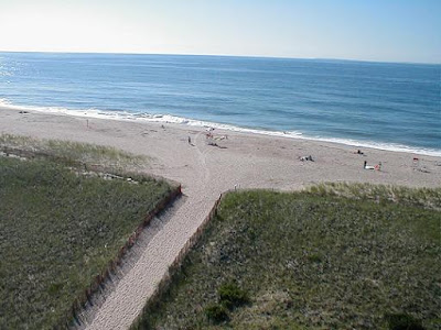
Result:
{"label": "entire pale sand area, beach together with the fenced footpath", "polygon": [[[301,189],[322,182],[441,186],[441,157],[141,120],[86,119],[0,108],[0,133],[115,146],[150,157],[149,174],[182,184],[183,198],[155,219],[137,257],[89,312],[87,329],[127,329],[186,240],[228,189]],[[189,141],[190,138],[190,141]],[[209,145],[212,144],[217,145]],[[313,162],[301,161],[311,155]],[[418,161],[415,161],[418,158]],[[381,169],[365,169],[364,162]]]}

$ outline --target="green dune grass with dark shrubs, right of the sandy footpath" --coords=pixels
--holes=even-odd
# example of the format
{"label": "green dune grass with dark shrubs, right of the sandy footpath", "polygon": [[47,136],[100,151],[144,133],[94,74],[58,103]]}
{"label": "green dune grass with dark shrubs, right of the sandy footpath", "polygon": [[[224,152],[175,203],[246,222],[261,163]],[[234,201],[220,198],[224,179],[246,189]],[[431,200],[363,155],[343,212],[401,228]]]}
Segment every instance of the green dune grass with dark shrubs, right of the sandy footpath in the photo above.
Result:
{"label": "green dune grass with dark shrubs, right of the sandy footpath", "polygon": [[330,190],[228,194],[132,328],[439,329],[441,189]]}

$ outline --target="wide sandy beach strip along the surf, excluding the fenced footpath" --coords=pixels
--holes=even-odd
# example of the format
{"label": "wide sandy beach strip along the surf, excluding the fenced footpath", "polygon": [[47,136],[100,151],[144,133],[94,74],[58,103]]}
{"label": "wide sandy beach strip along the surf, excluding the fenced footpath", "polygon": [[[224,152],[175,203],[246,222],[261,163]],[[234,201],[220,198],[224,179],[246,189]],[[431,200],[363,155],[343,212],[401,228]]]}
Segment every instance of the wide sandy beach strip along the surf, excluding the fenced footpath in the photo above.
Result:
{"label": "wide sandy beach strip along the surf, excluding the fenced footpath", "polygon": [[[218,144],[218,147],[208,145],[209,140],[205,135],[209,132],[214,134],[212,142]],[[150,174],[184,185],[189,176],[198,175],[194,174],[196,167],[200,167],[202,173],[215,170],[220,175],[228,167],[240,166],[240,170],[224,177],[230,177],[230,183],[223,185],[225,188],[219,189],[218,194],[235,186],[289,190],[313,183],[335,180],[415,187],[441,186],[441,156],[359,147],[329,141],[288,139],[284,135],[223,129],[209,131],[206,127],[175,122],[90,118],[0,106],[0,133],[103,144],[142,154],[152,157],[147,169]],[[191,157],[187,153],[189,146],[195,146],[193,143],[189,145],[189,138],[193,142],[197,138],[204,148],[196,150],[196,157]],[[357,155],[357,150],[362,150],[364,154]],[[205,154],[216,160],[216,163],[208,164]],[[315,162],[300,161],[301,157],[310,155]],[[262,164],[255,164],[256,166],[248,168],[248,163],[252,163],[254,158]],[[418,160],[418,164],[413,162],[415,158]],[[368,165],[381,162],[383,170],[365,170],[364,161]],[[302,170],[288,174],[289,166]],[[173,173],[173,168],[179,169]],[[306,176],[302,177],[302,172]],[[256,177],[262,174],[266,179],[257,183]]]}

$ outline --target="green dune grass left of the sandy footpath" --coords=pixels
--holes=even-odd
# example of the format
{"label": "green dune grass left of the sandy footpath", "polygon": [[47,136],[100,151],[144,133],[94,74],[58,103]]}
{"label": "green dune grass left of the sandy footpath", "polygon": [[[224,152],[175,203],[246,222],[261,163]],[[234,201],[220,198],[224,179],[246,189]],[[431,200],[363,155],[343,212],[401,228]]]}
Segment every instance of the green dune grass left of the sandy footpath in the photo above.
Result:
{"label": "green dune grass left of the sandy footpath", "polygon": [[[128,157],[107,147],[45,145],[71,160]],[[52,329],[63,321],[74,298],[169,194],[165,182],[148,177],[105,180],[51,157],[0,156],[0,329]]]}

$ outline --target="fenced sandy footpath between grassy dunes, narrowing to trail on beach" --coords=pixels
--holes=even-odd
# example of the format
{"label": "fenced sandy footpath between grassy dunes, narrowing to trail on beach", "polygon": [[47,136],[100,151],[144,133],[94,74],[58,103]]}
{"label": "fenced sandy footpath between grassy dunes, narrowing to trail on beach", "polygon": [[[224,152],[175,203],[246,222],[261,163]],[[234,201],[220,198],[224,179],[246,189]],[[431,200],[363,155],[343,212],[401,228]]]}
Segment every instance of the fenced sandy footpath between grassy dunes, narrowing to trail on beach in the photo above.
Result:
{"label": "fenced sandy footpath between grassy dunes, narrowing to trail on beach", "polygon": [[95,308],[97,310],[89,311],[90,322],[80,328],[129,328],[181,248],[196,231],[200,219],[208,213],[220,191],[208,188],[206,151],[200,148],[202,142],[198,138],[194,139],[194,147],[187,152],[195,158],[192,169],[201,175],[192,176],[192,180],[186,182],[183,201],[179,201],[164,217],[154,219],[152,226],[160,230],[154,235],[149,234],[151,230],[146,230],[141,241],[147,243],[138,243],[138,251],[135,252],[140,255],[139,258],[130,265],[130,270],[119,279],[104,304]]}

